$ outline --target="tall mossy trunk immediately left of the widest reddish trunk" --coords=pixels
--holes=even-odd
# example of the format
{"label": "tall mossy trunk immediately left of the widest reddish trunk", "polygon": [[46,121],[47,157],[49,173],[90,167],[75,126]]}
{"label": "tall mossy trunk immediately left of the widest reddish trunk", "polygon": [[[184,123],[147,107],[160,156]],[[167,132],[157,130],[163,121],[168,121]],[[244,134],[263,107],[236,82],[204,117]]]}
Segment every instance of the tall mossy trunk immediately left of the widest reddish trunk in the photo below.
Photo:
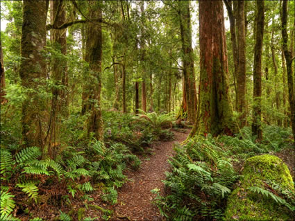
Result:
{"label": "tall mossy trunk immediately left of the widest reddish trunk", "polygon": [[189,1],[178,1],[180,34],[183,48],[183,76],[187,102],[187,121],[191,124],[196,119],[196,83],[194,77],[194,53],[192,49],[192,29],[190,22]]}

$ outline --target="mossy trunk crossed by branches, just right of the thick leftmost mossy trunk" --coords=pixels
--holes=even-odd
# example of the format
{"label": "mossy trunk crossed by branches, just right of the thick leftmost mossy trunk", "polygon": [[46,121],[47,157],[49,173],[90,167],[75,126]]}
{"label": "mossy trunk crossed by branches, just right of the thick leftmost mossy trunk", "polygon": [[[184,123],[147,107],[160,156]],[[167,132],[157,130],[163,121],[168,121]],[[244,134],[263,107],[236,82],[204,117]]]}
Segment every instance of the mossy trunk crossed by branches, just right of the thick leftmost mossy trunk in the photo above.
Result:
{"label": "mossy trunk crossed by branches, just right of the thick leftmost mossy trunk", "polygon": [[[67,29],[54,29],[66,22],[65,3],[62,0],[51,1],[51,42],[58,53],[67,54]],[[49,157],[55,158],[56,150],[60,143],[61,118],[68,116],[67,98],[67,61],[60,55],[53,56],[51,67],[51,80],[54,83],[52,89],[51,114],[49,118],[49,130],[47,134]]]}

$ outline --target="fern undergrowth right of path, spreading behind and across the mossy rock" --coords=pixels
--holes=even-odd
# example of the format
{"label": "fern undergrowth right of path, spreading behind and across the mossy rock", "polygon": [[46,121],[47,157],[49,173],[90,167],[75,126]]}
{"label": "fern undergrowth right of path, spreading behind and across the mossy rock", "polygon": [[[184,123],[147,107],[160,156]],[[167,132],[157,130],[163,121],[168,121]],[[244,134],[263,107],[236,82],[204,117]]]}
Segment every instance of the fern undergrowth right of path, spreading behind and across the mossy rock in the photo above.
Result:
{"label": "fern undergrowth right of path, spreading behind and across the mossy rock", "polygon": [[[160,213],[167,220],[221,220],[227,197],[239,178],[239,171],[235,169],[239,170],[248,157],[272,154],[294,145],[289,129],[264,126],[263,131],[264,140],[261,143],[255,143],[251,129],[244,127],[234,137],[213,138],[208,134],[204,139],[195,136],[187,145],[176,146],[176,154],[169,160],[171,171],[167,172],[164,181],[165,196],[161,196],[158,189],[153,190],[156,194],[154,202]],[[282,188],[278,185],[276,189],[279,191]],[[278,200],[273,193],[265,194],[265,191],[255,187],[249,191],[267,195],[293,208],[294,195],[290,193]]]}

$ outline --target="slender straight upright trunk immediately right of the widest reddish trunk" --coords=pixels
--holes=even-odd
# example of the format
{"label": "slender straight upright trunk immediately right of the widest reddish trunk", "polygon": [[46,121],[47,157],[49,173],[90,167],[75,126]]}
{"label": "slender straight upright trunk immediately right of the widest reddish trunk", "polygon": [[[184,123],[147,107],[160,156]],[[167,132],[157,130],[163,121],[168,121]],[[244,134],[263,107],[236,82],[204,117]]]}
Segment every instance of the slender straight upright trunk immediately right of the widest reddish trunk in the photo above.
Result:
{"label": "slender straight upright trunk immediately right of the widest reddish trunk", "polygon": [[246,38],[245,38],[244,1],[237,2],[237,111],[239,112],[239,125],[246,125]]}

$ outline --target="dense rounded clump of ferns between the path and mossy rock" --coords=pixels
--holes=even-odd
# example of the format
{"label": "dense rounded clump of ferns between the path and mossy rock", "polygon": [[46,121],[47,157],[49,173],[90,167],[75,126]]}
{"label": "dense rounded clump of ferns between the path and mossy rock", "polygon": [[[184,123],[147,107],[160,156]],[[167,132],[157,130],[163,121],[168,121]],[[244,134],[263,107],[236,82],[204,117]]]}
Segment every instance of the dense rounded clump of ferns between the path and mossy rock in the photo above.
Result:
{"label": "dense rounded clump of ferns between the path and mossy rock", "polygon": [[169,220],[220,219],[237,179],[228,155],[211,136],[175,150],[169,161],[172,171],[164,181],[169,194],[155,198],[160,212]]}

